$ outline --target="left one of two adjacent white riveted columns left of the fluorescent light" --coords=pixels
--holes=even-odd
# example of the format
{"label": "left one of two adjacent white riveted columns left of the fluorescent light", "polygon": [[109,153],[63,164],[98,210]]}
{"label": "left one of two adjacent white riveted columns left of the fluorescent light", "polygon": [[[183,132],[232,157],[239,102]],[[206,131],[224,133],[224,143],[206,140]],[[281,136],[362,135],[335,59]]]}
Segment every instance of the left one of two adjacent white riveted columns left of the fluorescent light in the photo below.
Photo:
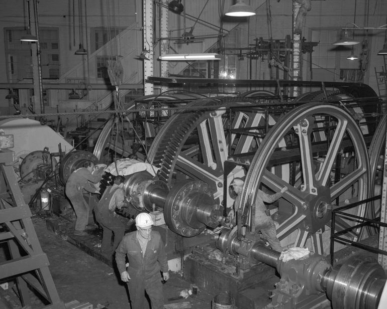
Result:
{"label": "left one of two adjacent white riveted columns left of the fluorescent light", "polygon": [[153,94],[153,83],[147,83],[149,76],[153,76],[153,1],[143,0],[144,48],[149,50],[149,60],[144,60],[144,94]]}

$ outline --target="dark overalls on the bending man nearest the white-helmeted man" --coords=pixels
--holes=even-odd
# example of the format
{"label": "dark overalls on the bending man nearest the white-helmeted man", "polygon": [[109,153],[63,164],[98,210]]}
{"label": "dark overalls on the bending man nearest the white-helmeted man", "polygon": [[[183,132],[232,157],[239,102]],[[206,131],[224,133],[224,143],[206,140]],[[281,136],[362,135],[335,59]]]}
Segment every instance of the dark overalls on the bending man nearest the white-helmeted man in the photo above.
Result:
{"label": "dark overalls on the bending man nearest the white-helmeted man", "polygon": [[[100,202],[95,207],[95,219],[101,225],[104,230],[102,234],[101,251],[108,251],[110,249],[110,243],[112,241],[112,231],[114,232],[113,250],[116,250],[122,237],[125,235],[125,225],[120,221],[118,217],[114,216],[114,210],[109,209],[110,201],[113,198],[114,193],[117,190],[122,190],[117,185],[108,187]],[[116,203],[116,202],[115,202]],[[115,205],[121,208],[122,205]]]}

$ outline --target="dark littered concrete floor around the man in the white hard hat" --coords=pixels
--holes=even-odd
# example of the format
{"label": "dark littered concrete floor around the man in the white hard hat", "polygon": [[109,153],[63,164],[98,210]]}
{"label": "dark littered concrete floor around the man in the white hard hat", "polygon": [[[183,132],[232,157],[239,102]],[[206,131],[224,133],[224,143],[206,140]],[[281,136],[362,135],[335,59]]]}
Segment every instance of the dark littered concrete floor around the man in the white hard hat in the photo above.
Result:
{"label": "dark littered concrete floor around the man in the white hard hat", "polygon": [[[121,281],[117,270],[47,230],[46,217],[37,216],[32,220],[42,249],[48,256],[50,272],[59,297],[64,303],[75,299],[81,303],[89,302],[93,308],[105,306],[109,309],[130,309],[127,286]],[[377,244],[377,238],[373,237],[371,242],[368,244]],[[340,250],[335,254],[335,262],[346,259],[355,251],[361,250],[353,247]],[[0,246],[0,262],[4,258],[3,245],[3,247]],[[269,303],[270,290],[278,280],[279,278],[266,280],[260,284],[260,287],[251,291],[255,297],[259,296],[262,303],[260,308]],[[16,293],[13,292],[12,285],[13,282],[10,281],[8,290],[0,288],[0,309],[22,308]],[[168,309],[212,307],[211,302],[215,295],[210,295],[203,290],[199,290],[196,296],[186,299],[179,298],[180,291],[190,289],[190,287],[190,283],[183,280],[180,273],[171,273],[170,279],[163,285],[165,307]],[[32,297],[32,302],[32,309],[43,306],[37,297]],[[326,303],[322,307],[328,308],[330,304]],[[144,307],[144,309],[148,308],[149,304]]]}

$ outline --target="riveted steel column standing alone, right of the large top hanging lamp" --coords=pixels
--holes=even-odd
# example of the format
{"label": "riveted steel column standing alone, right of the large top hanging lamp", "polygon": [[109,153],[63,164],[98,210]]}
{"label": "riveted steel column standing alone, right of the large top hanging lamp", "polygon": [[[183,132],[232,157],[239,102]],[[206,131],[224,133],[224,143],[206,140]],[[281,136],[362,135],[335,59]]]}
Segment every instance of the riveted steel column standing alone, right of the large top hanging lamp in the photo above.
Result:
{"label": "riveted steel column standing alone, right of the large top hanging lamp", "polygon": [[[293,80],[302,80],[302,53],[301,53],[301,34],[295,33],[295,26],[296,26],[296,17],[299,13],[299,10],[301,8],[301,5],[297,2],[293,1]],[[301,87],[300,86],[293,86],[293,93],[292,95],[294,97],[297,97],[301,94]]]}

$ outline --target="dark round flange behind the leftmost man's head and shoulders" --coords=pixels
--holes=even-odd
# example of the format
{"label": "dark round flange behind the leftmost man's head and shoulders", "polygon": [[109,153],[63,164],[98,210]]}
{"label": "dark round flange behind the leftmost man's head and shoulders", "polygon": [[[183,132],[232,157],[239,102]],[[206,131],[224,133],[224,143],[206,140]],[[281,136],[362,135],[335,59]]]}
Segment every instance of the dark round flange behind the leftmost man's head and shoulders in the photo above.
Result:
{"label": "dark round flange behind the leftmost man's head and shoulders", "polygon": [[97,157],[88,151],[75,150],[68,153],[63,158],[59,168],[59,177],[62,184],[65,185],[71,173],[81,168],[86,161],[91,161],[94,165],[99,163]]}

